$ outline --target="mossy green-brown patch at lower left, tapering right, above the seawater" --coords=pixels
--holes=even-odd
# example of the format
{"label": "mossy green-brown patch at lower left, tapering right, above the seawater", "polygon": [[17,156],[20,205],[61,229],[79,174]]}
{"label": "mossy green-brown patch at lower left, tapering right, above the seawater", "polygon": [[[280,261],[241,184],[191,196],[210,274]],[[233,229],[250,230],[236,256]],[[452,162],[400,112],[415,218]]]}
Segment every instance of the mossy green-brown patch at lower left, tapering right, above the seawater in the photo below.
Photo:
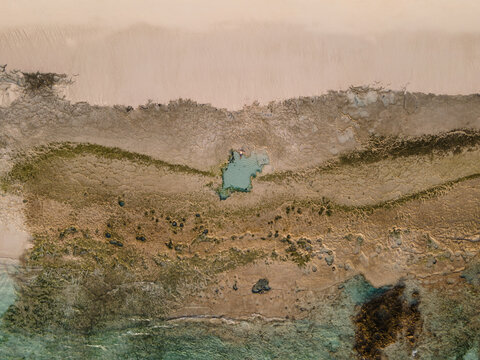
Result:
{"label": "mossy green-brown patch at lower left, tapering right, above the seawater", "polygon": [[231,248],[205,258],[148,259],[131,244],[118,247],[108,240],[76,227],[59,231],[58,238],[36,235],[5,326],[88,333],[130,316],[161,318],[181,305],[178,298],[205,288],[217,274],[266,256]]}

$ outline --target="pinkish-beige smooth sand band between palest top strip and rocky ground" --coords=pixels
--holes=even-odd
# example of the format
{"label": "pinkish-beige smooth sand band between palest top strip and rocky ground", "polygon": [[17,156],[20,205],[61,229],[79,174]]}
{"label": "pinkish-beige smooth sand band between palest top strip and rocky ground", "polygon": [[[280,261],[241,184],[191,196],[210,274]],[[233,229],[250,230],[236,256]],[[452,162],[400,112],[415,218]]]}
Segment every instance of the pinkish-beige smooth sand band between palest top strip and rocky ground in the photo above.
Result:
{"label": "pinkish-beige smooth sand band between palest top strip and rocky ground", "polygon": [[205,31],[146,24],[97,30],[0,28],[0,65],[68,74],[74,83],[62,95],[92,106],[193,99],[236,111],[358,85],[444,95],[480,91],[480,68],[471,61],[480,51],[475,32],[318,33],[275,23]]}

